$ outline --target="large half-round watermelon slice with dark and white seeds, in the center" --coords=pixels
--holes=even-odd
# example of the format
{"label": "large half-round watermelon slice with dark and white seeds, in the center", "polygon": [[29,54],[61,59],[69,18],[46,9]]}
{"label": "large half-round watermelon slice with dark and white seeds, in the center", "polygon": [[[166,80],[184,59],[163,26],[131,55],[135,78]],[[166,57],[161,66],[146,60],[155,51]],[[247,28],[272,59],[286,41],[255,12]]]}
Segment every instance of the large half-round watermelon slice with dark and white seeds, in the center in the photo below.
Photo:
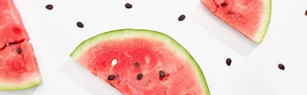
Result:
{"label": "large half-round watermelon slice with dark and white seeds, in the center", "polygon": [[210,94],[198,63],[160,32],[102,33],[83,41],[70,56],[123,94]]}

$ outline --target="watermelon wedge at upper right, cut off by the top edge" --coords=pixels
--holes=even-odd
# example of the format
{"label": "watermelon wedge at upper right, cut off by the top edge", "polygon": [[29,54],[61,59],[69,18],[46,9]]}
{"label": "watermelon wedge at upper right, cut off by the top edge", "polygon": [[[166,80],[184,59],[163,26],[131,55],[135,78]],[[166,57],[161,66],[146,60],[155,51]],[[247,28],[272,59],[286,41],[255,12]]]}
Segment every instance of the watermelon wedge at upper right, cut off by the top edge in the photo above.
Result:
{"label": "watermelon wedge at upper right, cut off by the top edge", "polygon": [[218,18],[260,44],[270,19],[271,0],[201,0]]}

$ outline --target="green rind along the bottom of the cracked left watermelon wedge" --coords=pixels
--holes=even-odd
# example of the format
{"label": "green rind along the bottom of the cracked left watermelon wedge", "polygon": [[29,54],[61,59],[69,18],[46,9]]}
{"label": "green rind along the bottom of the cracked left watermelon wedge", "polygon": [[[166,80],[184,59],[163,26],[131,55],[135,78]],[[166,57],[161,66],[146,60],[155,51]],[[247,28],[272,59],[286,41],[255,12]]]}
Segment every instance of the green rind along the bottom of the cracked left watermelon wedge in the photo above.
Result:
{"label": "green rind along the bottom of the cracked left watermelon wedge", "polygon": [[41,77],[38,75],[33,79],[29,79],[23,83],[2,83],[0,82],[0,90],[13,91],[13,90],[24,90],[32,88],[41,83]]}

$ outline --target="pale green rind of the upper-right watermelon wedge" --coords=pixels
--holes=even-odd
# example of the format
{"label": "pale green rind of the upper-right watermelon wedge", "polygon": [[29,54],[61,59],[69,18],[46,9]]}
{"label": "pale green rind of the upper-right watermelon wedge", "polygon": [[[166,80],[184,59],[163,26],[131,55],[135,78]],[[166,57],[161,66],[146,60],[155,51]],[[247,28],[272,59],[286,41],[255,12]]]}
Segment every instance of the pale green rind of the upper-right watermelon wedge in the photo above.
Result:
{"label": "pale green rind of the upper-right watermelon wedge", "polygon": [[268,31],[270,21],[271,21],[271,13],[272,13],[272,1],[271,0],[263,0],[265,5],[265,15],[262,18],[262,22],[259,28],[259,32],[255,35],[255,39],[253,39],[254,42],[257,44],[260,44]]}

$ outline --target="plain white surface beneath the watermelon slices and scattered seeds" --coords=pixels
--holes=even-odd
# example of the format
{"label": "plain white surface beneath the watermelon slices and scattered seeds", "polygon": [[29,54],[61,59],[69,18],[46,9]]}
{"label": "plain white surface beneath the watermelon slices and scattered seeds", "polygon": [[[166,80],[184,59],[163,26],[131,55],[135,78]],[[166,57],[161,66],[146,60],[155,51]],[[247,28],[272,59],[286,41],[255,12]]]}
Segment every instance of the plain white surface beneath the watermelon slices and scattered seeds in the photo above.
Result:
{"label": "plain white surface beneath the watermelon slices and scattered seeds", "polygon": [[[212,95],[307,94],[305,0],[272,0],[269,31],[258,46],[248,45],[252,43],[214,17],[200,0],[14,2],[34,46],[43,81],[35,88],[0,91],[1,95],[90,95],[60,73],[60,68],[83,40],[125,28],[160,31],[180,42],[203,69]],[[126,9],[126,3],[133,8]],[[47,10],[47,4],[54,9]],[[178,21],[181,14],[186,19]],[[83,29],[76,26],[77,21],[84,23]],[[231,66],[225,63],[228,57]],[[286,69],[280,70],[279,63]]]}

